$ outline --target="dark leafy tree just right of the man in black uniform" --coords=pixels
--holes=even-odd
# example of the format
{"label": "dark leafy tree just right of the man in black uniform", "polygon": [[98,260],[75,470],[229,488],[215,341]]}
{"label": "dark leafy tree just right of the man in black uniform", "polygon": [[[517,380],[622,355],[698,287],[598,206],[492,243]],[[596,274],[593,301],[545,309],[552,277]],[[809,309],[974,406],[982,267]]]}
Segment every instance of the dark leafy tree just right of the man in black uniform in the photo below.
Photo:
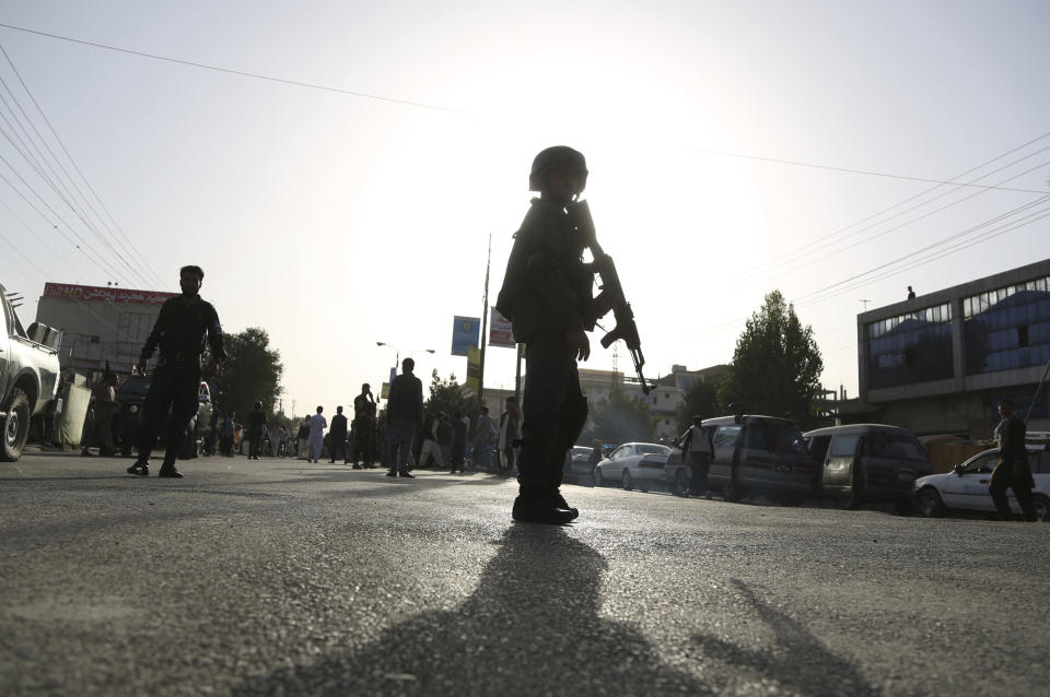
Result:
{"label": "dark leafy tree just right of the man in black uniform", "polygon": [[212,381],[217,409],[232,409],[238,420],[244,420],[256,402],[262,402],[262,409],[272,413],[281,393],[284,366],[280,352],[269,347],[269,334],[265,329],[249,327],[238,334],[226,334],[223,341],[226,359],[219,364]]}

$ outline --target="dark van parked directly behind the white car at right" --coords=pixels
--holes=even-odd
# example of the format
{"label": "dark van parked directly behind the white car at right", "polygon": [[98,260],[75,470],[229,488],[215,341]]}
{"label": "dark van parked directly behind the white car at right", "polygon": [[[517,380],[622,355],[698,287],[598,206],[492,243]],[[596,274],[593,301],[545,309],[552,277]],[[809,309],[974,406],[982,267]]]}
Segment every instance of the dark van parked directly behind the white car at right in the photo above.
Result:
{"label": "dark van parked directly behind the white car at right", "polygon": [[907,428],[831,426],[810,430],[805,439],[820,469],[820,492],[838,498],[843,508],[887,500],[899,513],[909,515],[914,500],[912,484],[933,474],[926,451]]}

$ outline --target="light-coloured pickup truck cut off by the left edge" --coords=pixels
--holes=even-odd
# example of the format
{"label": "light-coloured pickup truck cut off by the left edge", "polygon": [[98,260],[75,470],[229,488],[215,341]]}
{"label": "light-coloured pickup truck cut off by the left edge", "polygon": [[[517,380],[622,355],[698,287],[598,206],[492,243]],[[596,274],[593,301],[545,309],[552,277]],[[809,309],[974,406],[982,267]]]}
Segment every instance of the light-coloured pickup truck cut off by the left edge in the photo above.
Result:
{"label": "light-coloured pickup truck cut off by the left edge", "polygon": [[12,298],[0,285],[5,332],[0,336],[0,423],[3,441],[0,461],[22,457],[30,435],[30,417],[40,413],[58,390],[60,332],[45,324],[30,324],[26,331],[14,311]]}

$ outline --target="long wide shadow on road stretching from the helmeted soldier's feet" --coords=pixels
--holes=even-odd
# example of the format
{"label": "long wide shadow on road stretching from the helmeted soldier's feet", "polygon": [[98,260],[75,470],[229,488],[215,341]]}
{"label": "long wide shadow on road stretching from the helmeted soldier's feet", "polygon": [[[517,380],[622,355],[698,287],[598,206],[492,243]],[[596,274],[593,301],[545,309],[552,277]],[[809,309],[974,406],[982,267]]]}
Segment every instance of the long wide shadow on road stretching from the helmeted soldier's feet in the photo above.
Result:
{"label": "long wide shadow on road stretching from the helmeted soldier's feet", "polygon": [[561,528],[515,524],[478,589],[360,650],[249,678],[234,694],[631,695],[713,692],[599,616],[605,559]]}

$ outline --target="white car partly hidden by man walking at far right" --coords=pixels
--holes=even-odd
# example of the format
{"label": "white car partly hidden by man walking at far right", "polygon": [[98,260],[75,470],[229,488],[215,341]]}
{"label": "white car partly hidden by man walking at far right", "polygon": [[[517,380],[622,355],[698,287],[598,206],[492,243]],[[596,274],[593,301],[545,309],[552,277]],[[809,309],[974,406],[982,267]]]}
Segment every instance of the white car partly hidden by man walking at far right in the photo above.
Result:
{"label": "white car partly hidden by man walking at far right", "polygon": [[[1050,521],[1050,451],[1028,448],[1031,477],[1036,488],[1031,498],[1036,505],[1036,519]],[[940,518],[952,508],[995,511],[995,504],[988,494],[988,477],[999,462],[999,450],[985,450],[955,466],[952,472],[931,474],[915,480],[915,497],[919,512],[926,518]],[[1020,507],[1008,491],[1010,508],[1019,513]]]}

